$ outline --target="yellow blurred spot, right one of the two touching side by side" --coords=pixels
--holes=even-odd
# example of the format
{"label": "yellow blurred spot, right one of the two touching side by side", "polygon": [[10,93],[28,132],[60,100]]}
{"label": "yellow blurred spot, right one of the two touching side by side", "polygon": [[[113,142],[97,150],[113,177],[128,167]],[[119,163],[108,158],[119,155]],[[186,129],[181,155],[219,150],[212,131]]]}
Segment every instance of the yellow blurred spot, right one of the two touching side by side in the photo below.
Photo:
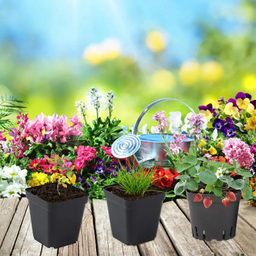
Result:
{"label": "yellow blurred spot, right one of the two touching side by side", "polygon": [[201,67],[201,79],[205,82],[217,82],[223,76],[223,68],[216,61],[205,62]]}

